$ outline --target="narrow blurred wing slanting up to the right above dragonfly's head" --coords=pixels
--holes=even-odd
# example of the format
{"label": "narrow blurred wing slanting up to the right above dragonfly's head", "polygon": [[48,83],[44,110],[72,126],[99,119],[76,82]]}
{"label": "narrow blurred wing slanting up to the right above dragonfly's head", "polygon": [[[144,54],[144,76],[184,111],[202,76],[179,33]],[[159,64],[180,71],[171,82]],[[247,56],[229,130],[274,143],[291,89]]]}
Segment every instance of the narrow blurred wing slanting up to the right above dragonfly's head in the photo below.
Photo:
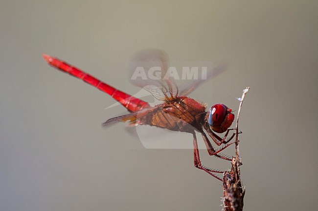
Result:
{"label": "narrow blurred wing slanting up to the right above dragonfly's head", "polygon": [[184,85],[181,89],[180,89],[180,96],[187,96],[189,95],[191,92],[193,92],[198,86],[200,86],[203,82],[219,75],[220,73],[222,73],[223,71],[226,70],[226,65],[225,64],[220,64],[214,68],[212,68],[212,70],[207,72],[206,75],[206,79],[198,79],[195,80],[191,83],[188,83],[186,85]]}

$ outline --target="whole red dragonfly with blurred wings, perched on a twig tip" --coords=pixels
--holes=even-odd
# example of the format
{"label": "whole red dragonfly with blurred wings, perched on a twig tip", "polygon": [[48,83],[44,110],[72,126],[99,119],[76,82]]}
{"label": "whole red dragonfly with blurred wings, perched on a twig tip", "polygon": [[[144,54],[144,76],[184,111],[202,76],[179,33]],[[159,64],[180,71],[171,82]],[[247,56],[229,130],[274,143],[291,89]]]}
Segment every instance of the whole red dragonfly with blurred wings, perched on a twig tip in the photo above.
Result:
{"label": "whole red dragonfly with blurred wings, perched on a twig tip", "polygon": [[[231,160],[226,155],[220,155],[218,153],[234,143],[228,143],[234,137],[234,134],[227,139],[229,131],[233,130],[228,129],[234,120],[234,115],[231,113],[232,110],[224,104],[215,104],[206,112],[205,105],[185,96],[199,86],[203,79],[189,83],[184,86],[183,89],[178,90],[175,81],[171,77],[167,77],[169,76],[167,74],[168,58],[164,52],[157,49],[141,51],[136,54],[132,63],[133,71],[131,71],[131,74],[133,74],[138,67],[143,67],[143,70],[146,71],[145,73],[147,74],[150,74],[151,67],[159,67],[161,76],[164,76],[152,79],[140,79],[139,77],[139,79],[131,80],[134,85],[147,90],[155,98],[163,101],[161,104],[153,107],[147,102],[115,89],[64,61],[45,54],[43,58],[51,66],[71,76],[80,78],[102,92],[109,94],[130,112],[127,115],[120,115],[108,119],[103,123],[103,126],[107,126],[116,121],[129,121],[132,125],[150,125],[166,128],[171,131],[190,133],[193,135],[194,166],[222,181],[222,179],[215,174],[223,173],[222,171],[210,169],[201,164],[196,132],[202,134],[209,155]],[[222,67],[217,67],[213,69],[213,72],[208,73],[207,78],[213,77],[222,71]],[[204,133],[204,130],[216,145],[225,145],[219,150],[215,150],[207,135]],[[226,134],[223,138],[215,134],[224,132],[226,132]]]}

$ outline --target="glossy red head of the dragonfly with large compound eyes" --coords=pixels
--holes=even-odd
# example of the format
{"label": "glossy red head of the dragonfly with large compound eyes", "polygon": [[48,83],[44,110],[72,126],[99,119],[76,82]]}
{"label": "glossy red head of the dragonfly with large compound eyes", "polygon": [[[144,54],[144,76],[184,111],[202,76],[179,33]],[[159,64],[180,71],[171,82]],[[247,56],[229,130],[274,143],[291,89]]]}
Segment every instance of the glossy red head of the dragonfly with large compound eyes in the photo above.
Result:
{"label": "glossy red head of the dragonfly with large compound eyes", "polygon": [[207,113],[207,123],[216,133],[224,133],[231,126],[234,115],[224,104],[213,105]]}

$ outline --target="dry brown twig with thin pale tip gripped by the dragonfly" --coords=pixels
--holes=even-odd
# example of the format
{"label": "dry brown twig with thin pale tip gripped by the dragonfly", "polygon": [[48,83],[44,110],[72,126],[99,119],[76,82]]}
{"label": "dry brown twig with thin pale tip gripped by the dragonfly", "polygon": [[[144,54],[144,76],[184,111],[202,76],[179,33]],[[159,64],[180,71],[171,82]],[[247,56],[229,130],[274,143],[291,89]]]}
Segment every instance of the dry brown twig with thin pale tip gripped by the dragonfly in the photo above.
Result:
{"label": "dry brown twig with thin pale tip gripped by the dragonfly", "polygon": [[232,158],[232,168],[223,174],[223,211],[243,211],[245,188],[241,181],[241,157],[239,156],[239,139],[238,139],[238,120],[241,112],[241,107],[245,95],[250,87],[243,90],[243,95],[240,100],[240,106],[236,117],[236,134],[235,134],[235,157]]}

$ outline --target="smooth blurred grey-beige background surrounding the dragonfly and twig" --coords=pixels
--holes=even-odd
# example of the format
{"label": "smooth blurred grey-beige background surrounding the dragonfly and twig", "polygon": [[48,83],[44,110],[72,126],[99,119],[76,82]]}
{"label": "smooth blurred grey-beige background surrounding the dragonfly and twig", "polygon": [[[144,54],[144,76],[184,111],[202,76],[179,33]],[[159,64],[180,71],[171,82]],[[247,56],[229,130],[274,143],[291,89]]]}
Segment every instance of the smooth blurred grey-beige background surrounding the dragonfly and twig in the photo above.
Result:
{"label": "smooth blurred grey-beige background surrounding the dragonfly and twig", "polygon": [[193,166],[192,150],[145,149],[123,123],[102,128],[125,109],[105,110],[110,96],[42,58],[134,94],[127,64],[149,47],[171,61],[227,61],[190,95],[209,107],[237,109],[251,87],[240,120],[245,211],[316,210],[317,11],[310,0],[0,0],[0,211],[221,211],[221,182]]}

